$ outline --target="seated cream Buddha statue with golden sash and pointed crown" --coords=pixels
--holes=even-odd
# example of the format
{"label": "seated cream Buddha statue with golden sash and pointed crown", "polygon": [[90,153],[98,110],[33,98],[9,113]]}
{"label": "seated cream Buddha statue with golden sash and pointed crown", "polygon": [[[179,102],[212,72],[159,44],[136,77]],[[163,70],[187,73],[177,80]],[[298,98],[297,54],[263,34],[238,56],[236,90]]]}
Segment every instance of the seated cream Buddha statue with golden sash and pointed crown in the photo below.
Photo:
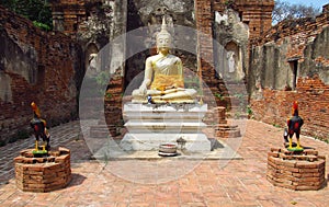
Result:
{"label": "seated cream Buddha statue with golden sash and pointed crown", "polygon": [[164,18],[157,34],[157,55],[145,62],[145,77],[139,89],[133,91],[133,103],[194,103],[196,91],[184,89],[182,60],[169,53],[172,38]]}

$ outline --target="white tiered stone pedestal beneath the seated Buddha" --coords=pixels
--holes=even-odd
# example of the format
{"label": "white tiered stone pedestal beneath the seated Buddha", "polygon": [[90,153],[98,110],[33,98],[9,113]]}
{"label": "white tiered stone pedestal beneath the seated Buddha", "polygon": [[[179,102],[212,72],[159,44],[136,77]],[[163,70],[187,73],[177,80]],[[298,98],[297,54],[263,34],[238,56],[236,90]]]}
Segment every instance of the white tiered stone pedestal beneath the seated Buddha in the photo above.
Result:
{"label": "white tiered stone pedestal beneath the seated Buddha", "polygon": [[202,133],[206,112],[206,104],[127,103],[123,113],[128,133],[120,146],[126,151],[158,150],[161,143],[183,138],[188,151],[211,151],[211,141]]}

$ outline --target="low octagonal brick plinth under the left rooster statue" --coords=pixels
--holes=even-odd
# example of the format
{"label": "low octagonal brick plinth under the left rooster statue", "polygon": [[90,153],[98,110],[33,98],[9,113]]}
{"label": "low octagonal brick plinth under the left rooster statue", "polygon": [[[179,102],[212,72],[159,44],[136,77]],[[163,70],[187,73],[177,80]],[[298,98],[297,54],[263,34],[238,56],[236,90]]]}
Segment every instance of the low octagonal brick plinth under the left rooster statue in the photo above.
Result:
{"label": "low octagonal brick plinth under the left rooster statue", "polygon": [[33,158],[33,149],[14,159],[16,186],[24,192],[52,192],[71,180],[70,150],[59,148],[46,158]]}

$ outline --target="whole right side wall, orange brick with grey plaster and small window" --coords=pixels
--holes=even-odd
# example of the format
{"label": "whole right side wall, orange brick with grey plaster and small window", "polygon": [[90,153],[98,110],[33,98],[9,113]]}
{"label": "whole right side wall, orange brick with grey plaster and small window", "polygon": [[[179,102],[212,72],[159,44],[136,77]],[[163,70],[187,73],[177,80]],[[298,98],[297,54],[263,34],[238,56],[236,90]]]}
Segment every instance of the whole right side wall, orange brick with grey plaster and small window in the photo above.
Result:
{"label": "whole right side wall, orange brick with grey plaster and small window", "polygon": [[328,8],[315,20],[281,22],[253,39],[248,85],[256,119],[285,126],[298,101],[303,134],[329,138]]}

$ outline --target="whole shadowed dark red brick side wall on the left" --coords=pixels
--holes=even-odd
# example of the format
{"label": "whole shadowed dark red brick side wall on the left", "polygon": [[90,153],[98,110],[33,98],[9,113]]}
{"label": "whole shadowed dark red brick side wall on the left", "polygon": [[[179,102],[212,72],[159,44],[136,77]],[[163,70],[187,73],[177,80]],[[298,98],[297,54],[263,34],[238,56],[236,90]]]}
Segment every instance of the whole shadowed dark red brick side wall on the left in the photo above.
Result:
{"label": "whole shadowed dark red brick side wall on the left", "polygon": [[48,125],[77,117],[80,47],[57,32],[43,32],[0,7],[0,140],[30,129],[31,102]]}

